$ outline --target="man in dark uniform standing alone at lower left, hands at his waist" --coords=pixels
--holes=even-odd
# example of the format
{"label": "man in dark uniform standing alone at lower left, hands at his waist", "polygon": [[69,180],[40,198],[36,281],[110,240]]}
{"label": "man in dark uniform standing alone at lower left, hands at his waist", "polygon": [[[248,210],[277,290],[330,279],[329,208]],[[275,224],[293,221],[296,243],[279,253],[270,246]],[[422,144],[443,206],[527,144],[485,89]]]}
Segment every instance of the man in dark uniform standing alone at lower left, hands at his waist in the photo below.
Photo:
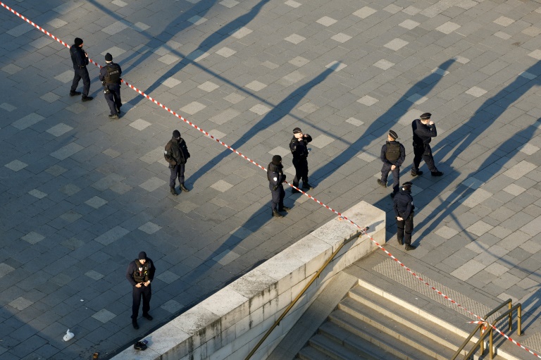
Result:
{"label": "man in dark uniform standing alone at lower left, hands at his waist", "polygon": [[126,270],[126,278],[133,287],[132,325],[136,330],[139,328],[139,325],[137,325],[137,316],[139,316],[141,297],[143,298],[143,317],[147,320],[152,320],[152,316],[149,314],[150,298],[152,297],[150,283],[154,279],[155,272],[154,263],[151,259],[147,258],[146,252],[139,252],[137,259],[132,261]]}

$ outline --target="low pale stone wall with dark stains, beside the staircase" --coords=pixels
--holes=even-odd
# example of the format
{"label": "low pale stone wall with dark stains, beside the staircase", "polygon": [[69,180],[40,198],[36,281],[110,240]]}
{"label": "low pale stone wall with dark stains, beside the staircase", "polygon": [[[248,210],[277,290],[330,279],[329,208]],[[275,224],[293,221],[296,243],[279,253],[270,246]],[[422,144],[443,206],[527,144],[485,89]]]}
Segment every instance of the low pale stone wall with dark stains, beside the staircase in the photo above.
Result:
{"label": "low pale stone wall with dark stains, beside the staircase", "polygon": [[[385,212],[364,201],[344,212],[385,242]],[[114,360],[244,359],[332,252],[356,228],[334,218],[147,337],[149,348],[132,347]],[[266,359],[337,272],[375,249],[366,235],[349,242],[251,359]]]}

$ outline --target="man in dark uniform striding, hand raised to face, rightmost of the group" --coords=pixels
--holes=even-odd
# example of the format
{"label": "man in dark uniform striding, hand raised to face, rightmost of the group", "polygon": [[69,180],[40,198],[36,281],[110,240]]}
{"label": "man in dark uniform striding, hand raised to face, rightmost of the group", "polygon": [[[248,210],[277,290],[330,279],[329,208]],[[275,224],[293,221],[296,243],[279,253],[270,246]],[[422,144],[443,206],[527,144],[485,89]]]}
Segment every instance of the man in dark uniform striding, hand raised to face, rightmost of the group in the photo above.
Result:
{"label": "man in dark uniform striding, hand raised to face, rightmost of the group", "polygon": [[413,120],[411,128],[413,129],[413,166],[411,166],[411,176],[422,175],[419,171],[419,164],[423,159],[428,166],[428,170],[433,176],[441,176],[443,173],[437,170],[434,165],[432,149],[430,149],[430,140],[437,136],[436,124],[430,120],[431,113],[423,113],[420,119]]}

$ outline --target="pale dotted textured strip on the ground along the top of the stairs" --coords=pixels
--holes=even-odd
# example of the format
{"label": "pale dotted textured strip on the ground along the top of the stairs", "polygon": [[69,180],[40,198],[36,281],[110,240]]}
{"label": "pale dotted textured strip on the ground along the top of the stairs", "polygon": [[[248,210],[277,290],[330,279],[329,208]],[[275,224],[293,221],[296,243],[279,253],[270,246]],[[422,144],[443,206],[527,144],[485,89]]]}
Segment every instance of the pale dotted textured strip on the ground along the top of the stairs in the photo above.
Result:
{"label": "pale dotted textured strip on the ground along the top of the stairs", "polygon": [[[454,309],[455,311],[458,311],[460,314],[467,316],[468,318],[471,318],[472,320],[477,320],[475,316],[469,314],[467,311],[462,309],[459,306],[456,306],[452,302],[449,302],[449,300],[442,297],[440,294],[432,290],[430,287],[425,285],[424,282],[421,282],[418,278],[411,276],[410,273],[406,271],[402,266],[399,265],[396,261],[392,259],[386,259],[385,261],[382,261],[381,263],[378,263],[378,265],[374,266],[373,268],[375,271],[378,271],[378,273],[383,274],[387,276],[387,278],[390,278],[394,281],[396,281],[399,284],[402,284],[406,287],[409,287],[411,290],[415,290],[416,292],[419,292],[420,294],[423,294],[425,297],[428,297],[430,299],[435,300],[436,302],[439,302],[440,304],[444,304],[445,306],[449,307],[450,309]],[[416,273],[419,278],[422,278],[425,280],[426,283],[429,283],[433,287],[435,287],[437,290],[440,290],[443,294],[446,294],[447,297],[450,299],[453,299],[457,304],[460,304],[465,309],[468,309],[473,314],[477,314],[479,316],[485,316],[491,309],[487,306],[480,304],[478,302],[475,302],[474,300],[470,299],[469,297],[464,296],[463,294],[460,294],[459,292],[456,292],[452,289],[449,289],[449,287],[442,285],[440,283],[435,282],[434,280],[425,277],[421,273]],[[499,314],[493,315],[494,317],[499,316]],[[492,318],[492,316],[489,318]]]}

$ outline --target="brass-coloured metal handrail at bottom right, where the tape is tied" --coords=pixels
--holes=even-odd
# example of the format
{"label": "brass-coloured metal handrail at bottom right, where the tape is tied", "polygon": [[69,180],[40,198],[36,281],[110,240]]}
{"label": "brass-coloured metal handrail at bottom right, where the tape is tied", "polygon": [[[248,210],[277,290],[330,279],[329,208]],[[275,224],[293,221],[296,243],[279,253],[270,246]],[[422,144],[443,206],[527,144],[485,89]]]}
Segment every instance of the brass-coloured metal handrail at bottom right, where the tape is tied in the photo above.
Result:
{"label": "brass-coloured metal handrail at bottom right, where the tape is tied", "polygon": [[[488,323],[487,318],[494,315],[496,313],[496,311],[498,311],[499,309],[502,309],[506,305],[508,307],[507,311],[505,311],[504,314],[502,314],[502,315],[498,316],[497,318],[495,318],[495,320],[492,321],[492,324]],[[512,306],[511,299],[508,299],[506,302],[503,302],[502,304],[497,306],[496,309],[493,309],[492,311],[490,311],[490,313],[485,315],[485,317],[483,318],[483,323],[479,323],[475,327],[475,330],[473,330],[471,332],[471,334],[468,337],[466,337],[466,340],[464,340],[461,347],[459,347],[459,349],[456,350],[456,352],[454,353],[451,360],[454,360],[454,359],[456,359],[456,356],[459,356],[459,354],[462,352],[462,350],[464,350],[464,347],[466,347],[466,345],[468,345],[468,342],[473,337],[473,335],[475,335],[475,333],[477,333],[477,330],[480,330],[479,340],[477,342],[475,342],[475,345],[473,345],[473,348],[470,350],[470,352],[468,352],[468,354],[466,354],[466,356],[464,356],[464,359],[470,359],[471,356],[477,351],[478,348],[480,349],[481,355],[483,355],[483,352],[485,352],[485,341],[484,340],[485,340],[485,337],[488,336],[489,337],[488,348],[489,348],[490,360],[492,360],[494,358],[494,342],[492,341],[492,337],[493,337],[493,333],[494,333],[494,328],[493,327],[496,325],[496,323],[498,321],[502,320],[502,318],[507,317],[508,318],[507,321],[509,323],[509,331],[511,331],[512,328],[513,328],[513,311],[514,310],[516,310],[516,313],[517,313],[517,316],[516,316],[516,318],[517,318],[516,324],[517,324],[517,329],[518,329],[517,334],[519,336],[522,335],[522,304],[518,303],[515,306]],[[483,328],[483,325],[485,325],[485,328]],[[490,329],[487,329],[487,328],[490,328]]]}

